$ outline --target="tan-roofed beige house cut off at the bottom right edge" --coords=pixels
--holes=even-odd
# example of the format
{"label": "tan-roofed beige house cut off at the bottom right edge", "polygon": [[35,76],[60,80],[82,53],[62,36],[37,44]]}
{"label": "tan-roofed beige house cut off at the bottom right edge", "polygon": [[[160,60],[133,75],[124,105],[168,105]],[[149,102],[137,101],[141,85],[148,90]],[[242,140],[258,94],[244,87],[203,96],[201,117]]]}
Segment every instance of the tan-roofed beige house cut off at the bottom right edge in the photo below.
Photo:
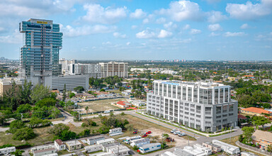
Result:
{"label": "tan-roofed beige house cut off at the bottom right edge", "polygon": [[252,142],[259,144],[261,149],[266,150],[268,145],[272,145],[272,133],[263,130],[256,130],[252,134]]}

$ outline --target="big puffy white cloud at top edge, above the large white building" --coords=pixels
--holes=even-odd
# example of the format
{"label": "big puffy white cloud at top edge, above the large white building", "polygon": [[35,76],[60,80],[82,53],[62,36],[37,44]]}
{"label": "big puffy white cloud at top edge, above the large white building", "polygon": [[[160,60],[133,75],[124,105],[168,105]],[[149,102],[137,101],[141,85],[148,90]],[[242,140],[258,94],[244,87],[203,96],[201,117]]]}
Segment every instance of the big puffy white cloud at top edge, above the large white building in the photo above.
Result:
{"label": "big puffy white cloud at top edge, above the large white building", "polygon": [[174,21],[198,21],[202,16],[197,3],[185,0],[171,1],[169,9],[161,9],[157,13],[170,16]]}

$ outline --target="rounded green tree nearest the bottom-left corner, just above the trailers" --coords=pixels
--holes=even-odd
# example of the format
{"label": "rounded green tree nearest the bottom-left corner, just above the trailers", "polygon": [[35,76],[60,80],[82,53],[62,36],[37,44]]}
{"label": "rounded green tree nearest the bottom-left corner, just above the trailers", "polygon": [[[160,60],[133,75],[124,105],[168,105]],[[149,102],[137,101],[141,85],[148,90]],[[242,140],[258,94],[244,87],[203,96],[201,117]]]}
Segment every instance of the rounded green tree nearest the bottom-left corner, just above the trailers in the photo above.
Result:
{"label": "rounded green tree nearest the bottom-left corner, just above the trailers", "polygon": [[16,130],[13,135],[13,140],[29,140],[35,137],[35,133],[32,128],[21,128]]}

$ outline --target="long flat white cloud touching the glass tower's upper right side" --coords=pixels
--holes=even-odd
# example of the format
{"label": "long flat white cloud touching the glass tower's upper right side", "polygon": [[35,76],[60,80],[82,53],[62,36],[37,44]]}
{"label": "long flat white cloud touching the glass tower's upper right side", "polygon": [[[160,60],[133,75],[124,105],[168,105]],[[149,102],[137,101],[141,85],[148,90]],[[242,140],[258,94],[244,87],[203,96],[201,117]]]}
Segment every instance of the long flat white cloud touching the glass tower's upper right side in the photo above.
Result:
{"label": "long flat white cloud touching the glass tower's upper right side", "polygon": [[73,28],[72,26],[60,26],[61,31],[64,35],[68,37],[74,37],[79,35],[91,35],[96,33],[111,33],[116,30],[115,26],[103,26],[103,25],[95,25],[95,26],[82,26]]}

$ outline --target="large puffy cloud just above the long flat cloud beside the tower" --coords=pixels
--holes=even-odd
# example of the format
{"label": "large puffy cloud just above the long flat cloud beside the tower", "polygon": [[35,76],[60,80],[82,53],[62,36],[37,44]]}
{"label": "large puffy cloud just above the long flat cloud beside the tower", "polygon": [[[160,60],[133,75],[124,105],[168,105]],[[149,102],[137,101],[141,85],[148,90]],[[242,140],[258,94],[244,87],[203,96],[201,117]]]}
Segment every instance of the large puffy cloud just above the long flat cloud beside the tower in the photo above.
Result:
{"label": "large puffy cloud just above the long flat cloud beside the tower", "polygon": [[114,9],[112,7],[104,8],[99,4],[85,4],[84,10],[87,13],[81,18],[90,23],[112,24],[127,16],[127,8],[125,6]]}

